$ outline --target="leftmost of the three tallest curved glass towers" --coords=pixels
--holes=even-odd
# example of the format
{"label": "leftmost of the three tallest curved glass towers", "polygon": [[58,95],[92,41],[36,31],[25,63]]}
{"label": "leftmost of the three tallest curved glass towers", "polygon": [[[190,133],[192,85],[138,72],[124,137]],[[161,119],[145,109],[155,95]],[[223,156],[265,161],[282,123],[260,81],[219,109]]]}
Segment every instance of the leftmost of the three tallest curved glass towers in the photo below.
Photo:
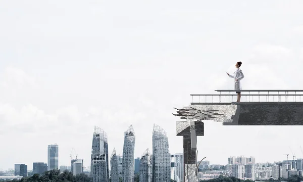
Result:
{"label": "leftmost of the three tallest curved glass towers", "polygon": [[92,182],[109,182],[109,147],[107,133],[95,126],[92,136],[90,177]]}

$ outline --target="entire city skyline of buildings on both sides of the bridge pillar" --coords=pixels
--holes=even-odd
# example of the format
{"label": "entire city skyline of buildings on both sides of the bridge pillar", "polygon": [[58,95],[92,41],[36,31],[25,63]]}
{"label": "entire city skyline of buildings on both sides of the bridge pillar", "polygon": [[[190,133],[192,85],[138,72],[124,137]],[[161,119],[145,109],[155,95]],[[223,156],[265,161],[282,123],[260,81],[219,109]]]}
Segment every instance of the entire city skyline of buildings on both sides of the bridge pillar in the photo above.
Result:
{"label": "entire city skyline of buildings on both sides of the bridge pillar", "polygon": [[[153,150],[148,148],[141,157],[134,157],[136,135],[131,126],[124,132],[122,155],[117,155],[116,149],[109,156],[107,133],[95,126],[92,135],[90,166],[83,166],[83,159],[71,157],[70,166],[59,167],[59,146],[47,146],[47,163],[34,162],[33,170],[28,172],[26,164],[15,164],[15,169],[0,171],[0,181],[21,179],[28,174],[43,174],[52,169],[68,170],[74,175],[84,173],[91,177],[92,182],[134,181],[134,175],[140,182],[184,182],[183,153],[170,154],[166,131],[154,124]],[[295,157],[295,156],[294,156]],[[226,165],[210,164],[210,161],[197,161],[200,180],[218,178],[220,175],[249,180],[267,180],[288,178],[291,175],[302,175],[303,159],[284,160],[274,163],[256,163],[255,157],[230,156]]]}

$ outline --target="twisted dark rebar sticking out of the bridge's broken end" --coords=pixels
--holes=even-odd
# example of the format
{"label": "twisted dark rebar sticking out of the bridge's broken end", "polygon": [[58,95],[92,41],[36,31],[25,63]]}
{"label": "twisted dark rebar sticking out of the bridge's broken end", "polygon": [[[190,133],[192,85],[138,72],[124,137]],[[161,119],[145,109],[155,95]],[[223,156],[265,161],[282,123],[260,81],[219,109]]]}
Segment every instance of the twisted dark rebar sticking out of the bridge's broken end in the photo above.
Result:
{"label": "twisted dark rebar sticking out of the bridge's broken end", "polygon": [[[186,118],[192,118],[192,119],[197,119],[197,121],[202,121],[210,118],[217,118],[214,116],[218,115],[224,115],[216,112],[225,112],[225,111],[219,111],[219,110],[210,110],[210,111],[205,111],[205,110],[198,110],[195,108],[190,107],[191,109],[177,109],[177,114],[173,114],[174,116],[181,117],[182,119]],[[205,115],[205,117],[201,118],[200,116],[197,116],[197,114],[202,114]]]}

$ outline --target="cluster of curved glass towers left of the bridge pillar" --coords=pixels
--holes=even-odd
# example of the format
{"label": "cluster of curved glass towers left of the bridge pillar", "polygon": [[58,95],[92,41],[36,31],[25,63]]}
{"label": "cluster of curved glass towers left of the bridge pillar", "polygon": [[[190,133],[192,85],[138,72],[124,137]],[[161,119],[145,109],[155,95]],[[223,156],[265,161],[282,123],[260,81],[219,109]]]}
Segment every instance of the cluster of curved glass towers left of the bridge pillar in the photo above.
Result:
{"label": "cluster of curved glass towers left of the bridge pillar", "polygon": [[[170,181],[171,177],[174,178],[174,176],[171,176],[172,156],[169,153],[167,134],[163,128],[154,124],[153,154],[151,154],[147,148],[140,158],[135,159],[135,141],[136,135],[131,125],[124,132],[122,156],[117,155],[114,148],[109,159],[107,133],[101,128],[95,126],[91,150],[90,177],[92,178],[92,181],[108,182],[109,178],[111,178],[112,182],[119,182],[119,177],[122,178],[122,181],[133,181],[134,174],[139,174],[140,182],[163,182]],[[176,169],[177,171],[180,171],[178,159],[179,158],[177,156]],[[109,161],[111,164],[110,167]],[[174,174],[176,176],[180,175],[175,172]]]}

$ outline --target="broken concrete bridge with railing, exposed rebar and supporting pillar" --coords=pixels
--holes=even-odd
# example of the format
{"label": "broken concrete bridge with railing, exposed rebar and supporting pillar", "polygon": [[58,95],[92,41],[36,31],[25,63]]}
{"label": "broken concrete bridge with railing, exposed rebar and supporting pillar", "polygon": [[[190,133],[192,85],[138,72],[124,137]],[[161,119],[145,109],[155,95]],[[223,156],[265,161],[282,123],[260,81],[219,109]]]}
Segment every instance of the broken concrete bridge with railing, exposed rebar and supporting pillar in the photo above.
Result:
{"label": "broken concrete bridge with railing, exposed rebar and supporting pillar", "polygon": [[[177,136],[183,136],[184,182],[198,181],[196,136],[204,135],[203,120],[223,125],[303,125],[303,90],[215,90],[218,94],[192,94],[189,106],[173,114]],[[243,94],[245,93],[245,94]],[[244,102],[243,102],[244,100]]]}

